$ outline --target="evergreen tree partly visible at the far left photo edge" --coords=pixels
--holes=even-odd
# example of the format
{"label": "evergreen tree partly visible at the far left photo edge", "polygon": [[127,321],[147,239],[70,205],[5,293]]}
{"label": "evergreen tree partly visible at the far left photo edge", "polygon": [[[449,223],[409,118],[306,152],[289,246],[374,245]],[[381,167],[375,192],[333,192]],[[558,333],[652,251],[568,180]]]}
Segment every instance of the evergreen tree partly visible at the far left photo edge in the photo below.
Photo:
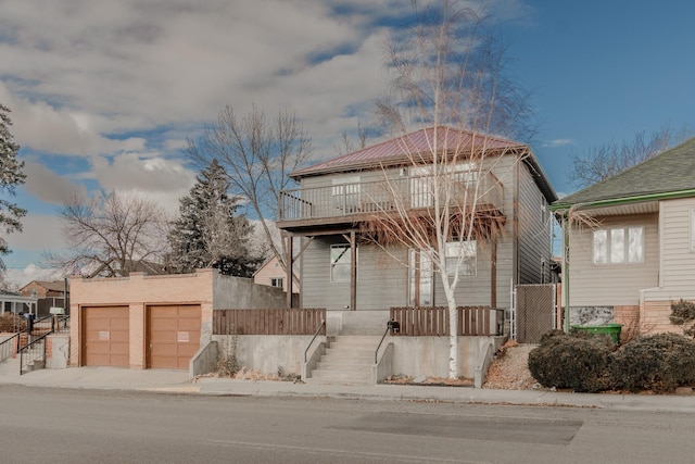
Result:
{"label": "evergreen tree partly visible at the far left photo edge", "polygon": [[[24,184],[26,175],[22,172],[24,162],[17,160],[20,146],[13,141],[10,126],[12,121],[8,115],[10,109],[0,103],[0,192],[13,196],[15,188]],[[4,198],[0,199],[0,227],[5,234],[22,231],[20,220],[26,215],[26,210]],[[10,253],[10,248],[4,238],[0,237],[0,254]],[[4,269],[4,263],[0,260],[0,271]]]}

